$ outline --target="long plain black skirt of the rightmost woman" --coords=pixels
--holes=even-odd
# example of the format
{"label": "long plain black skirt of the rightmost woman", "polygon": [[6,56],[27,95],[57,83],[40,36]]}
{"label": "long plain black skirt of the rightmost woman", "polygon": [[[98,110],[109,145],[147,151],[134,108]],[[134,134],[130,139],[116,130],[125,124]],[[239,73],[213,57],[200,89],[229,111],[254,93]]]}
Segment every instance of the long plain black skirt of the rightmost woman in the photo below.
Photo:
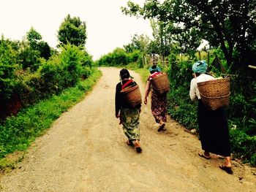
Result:
{"label": "long plain black skirt of the rightmost woman", "polygon": [[202,149],[222,156],[230,156],[229,129],[223,108],[208,110],[198,100],[197,120]]}

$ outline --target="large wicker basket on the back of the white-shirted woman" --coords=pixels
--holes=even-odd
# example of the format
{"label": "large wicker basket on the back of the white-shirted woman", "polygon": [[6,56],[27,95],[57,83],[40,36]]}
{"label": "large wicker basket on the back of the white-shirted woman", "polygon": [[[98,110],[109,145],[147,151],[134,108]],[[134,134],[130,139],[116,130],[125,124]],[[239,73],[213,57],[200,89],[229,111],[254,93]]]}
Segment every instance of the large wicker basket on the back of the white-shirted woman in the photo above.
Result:
{"label": "large wicker basket on the back of the white-shirted woman", "polygon": [[206,82],[198,82],[197,87],[203,104],[211,109],[217,110],[227,107],[230,96],[230,77]]}

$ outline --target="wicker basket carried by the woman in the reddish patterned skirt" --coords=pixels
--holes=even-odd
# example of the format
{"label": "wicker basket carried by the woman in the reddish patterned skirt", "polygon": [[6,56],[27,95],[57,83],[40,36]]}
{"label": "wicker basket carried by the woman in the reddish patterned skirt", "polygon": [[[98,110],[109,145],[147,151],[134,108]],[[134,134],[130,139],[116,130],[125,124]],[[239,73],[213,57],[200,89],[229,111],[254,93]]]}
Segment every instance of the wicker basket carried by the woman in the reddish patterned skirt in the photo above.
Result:
{"label": "wicker basket carried by the woman in the reddish patterned skirt", "polygon": [[159,94],[167,93],[170,91],[170,83],[169,83],[167,74],[165,72],[152,78],[150,82],[153,88]]}

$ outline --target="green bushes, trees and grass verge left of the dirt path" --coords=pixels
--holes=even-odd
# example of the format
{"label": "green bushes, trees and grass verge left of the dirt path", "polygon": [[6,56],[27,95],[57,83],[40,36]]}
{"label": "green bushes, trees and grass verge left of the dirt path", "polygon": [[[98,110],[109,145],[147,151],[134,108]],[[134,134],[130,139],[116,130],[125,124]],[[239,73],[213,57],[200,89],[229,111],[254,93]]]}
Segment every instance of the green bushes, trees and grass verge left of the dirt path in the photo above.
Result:
{"label": "green bushes, trees and grass verge left of the dirt path", "polygon": [[84,47],[85,23],[68,15],[59,38],[59,50],[44,42],[34,28],[21,42],[3,35],[0,39],[0,159],[25,150],[82,99],[100,75]]}

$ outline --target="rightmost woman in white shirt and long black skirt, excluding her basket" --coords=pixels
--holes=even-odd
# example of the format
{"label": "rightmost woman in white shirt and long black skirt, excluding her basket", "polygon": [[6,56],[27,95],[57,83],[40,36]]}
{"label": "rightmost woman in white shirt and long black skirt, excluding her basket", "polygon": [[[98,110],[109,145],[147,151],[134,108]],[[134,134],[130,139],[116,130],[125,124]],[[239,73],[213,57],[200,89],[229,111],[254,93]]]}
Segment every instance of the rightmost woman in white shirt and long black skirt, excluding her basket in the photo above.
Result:
{"label": "rightmost woman in white shirt and long black skirt, excluding her basket", "polygon": [[207,69],[206,61],[197,61],[192,66],[193,79],[190,82],[189,96],[192,101],[198,100],[197,121],[199,126],[199,135],[203,153],[199,153],[203,158],[210,159],[210,153],[222,155],[225,157],[225,164],[219,168],[225,170],[228,174],[233,174],[230,160],[230,140],[227,126],[225,110],[208,110],[201,101],[200,93],[197,88],[197,82],[214,80],[211,75],[205,74]]}

